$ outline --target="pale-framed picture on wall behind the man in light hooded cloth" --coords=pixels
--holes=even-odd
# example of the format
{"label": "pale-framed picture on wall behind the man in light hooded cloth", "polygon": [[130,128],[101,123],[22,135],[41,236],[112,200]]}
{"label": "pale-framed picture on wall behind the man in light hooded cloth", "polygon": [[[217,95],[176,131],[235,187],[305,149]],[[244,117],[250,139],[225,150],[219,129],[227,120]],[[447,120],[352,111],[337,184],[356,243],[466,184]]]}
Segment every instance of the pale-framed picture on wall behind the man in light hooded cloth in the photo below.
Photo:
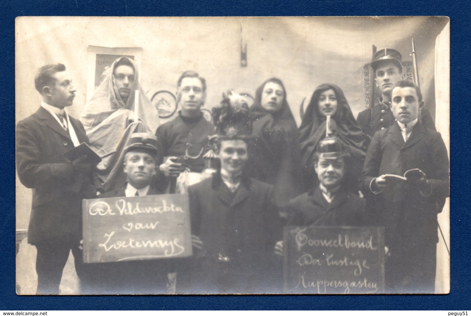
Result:
{"label": "pale-framed picture on wall behind the man in light hooded cloth", "polygon": [[[126,56],[134,60],[141,68],[142,47],[101,47],[89,46],[87,72],[87,101],[106,77],[116,58]],[[138,78],[140,79],[140,78]]]}

